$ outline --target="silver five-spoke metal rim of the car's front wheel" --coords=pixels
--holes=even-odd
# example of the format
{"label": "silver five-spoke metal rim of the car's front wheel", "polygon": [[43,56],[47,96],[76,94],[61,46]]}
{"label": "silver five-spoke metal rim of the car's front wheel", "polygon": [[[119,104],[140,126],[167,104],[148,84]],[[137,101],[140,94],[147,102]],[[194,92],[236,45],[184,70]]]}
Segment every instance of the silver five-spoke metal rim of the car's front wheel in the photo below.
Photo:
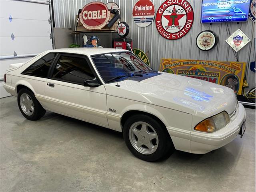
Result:
{"label": "silver five-spoke metal rim of the car's front wheel", "polygon": [[[142,129],[138,130],[137,127],[139,125],[144,126],[144,128],[146,128],[146,131],[142,130]],[[148,127],[153,132],[149,131]],[[138,138],[138,136],[140,136],[140,138]],[[137,139],[136,139],[136,137],[137,137]],[[155,145],[152,144],[153,139],[156,139]],[[129,140],[130,140],[130,143],[132,144],[132,147],[136,151],[138,151],[144,155],[149,155],[149,154],[154,153],[157,150],[158,144],[159,144],[159,139],[158,139],[156,130],[150,124],[143,122],[143,121],[135,122],[130,126]],[[148,142],[148,140],[149,140],[149,142]],[[147,146],[147,148],[145,148],[143,145]]]}

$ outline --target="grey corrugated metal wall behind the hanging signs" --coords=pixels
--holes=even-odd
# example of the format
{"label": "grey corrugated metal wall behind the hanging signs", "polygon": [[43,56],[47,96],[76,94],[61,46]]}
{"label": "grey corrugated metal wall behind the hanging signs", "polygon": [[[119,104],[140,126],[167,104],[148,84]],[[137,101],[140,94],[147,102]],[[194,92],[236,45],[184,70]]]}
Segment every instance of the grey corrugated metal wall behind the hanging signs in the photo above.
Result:
{"label": "grey corrugated metal wall behind the hanging signs", "polygon": [[[53,0],[54,18],[56,27],[67,27],[75,30],[76,14],[78,9],[84,5],[96,0]],[[132,8],[138,0],[98,0],[103,3],[115,2],[120,7],[122,16],[121,21],[125,21],[130,26],[130,34],[128,37],[133,40],[133,47],[139,48],[148,54],[152,68],[158,70],[161,58],[175,59],[194,59],[194,60],[215,60],[215,61],[236,61],[232,48],[228,46],[225,40],[228,38],[226,23],[201,24],[200,13],[202,0],[188,0],[194,10],[194,23],[192,28],[184,36],[178,40],[166,40],[157,31],[155,22],[146,28],[138,27],[132,19]],[[152,0],[156,12],[165,0]],[[255,61],[255,23],[248,19],[248,22],[240,22],[237,24],[227,23],[232,34],[240,28],[250,39],[242,50],[238,52],[239,62],[246,62],[246,78],[249,87],[255,87],[255,73],[250,70],[250,62]],[[201,51],[196,46],[196,36],[203,30],[212,30],[218,37],[218,45],[208,52]],[[77,37],[74,41],[77,41]]]}

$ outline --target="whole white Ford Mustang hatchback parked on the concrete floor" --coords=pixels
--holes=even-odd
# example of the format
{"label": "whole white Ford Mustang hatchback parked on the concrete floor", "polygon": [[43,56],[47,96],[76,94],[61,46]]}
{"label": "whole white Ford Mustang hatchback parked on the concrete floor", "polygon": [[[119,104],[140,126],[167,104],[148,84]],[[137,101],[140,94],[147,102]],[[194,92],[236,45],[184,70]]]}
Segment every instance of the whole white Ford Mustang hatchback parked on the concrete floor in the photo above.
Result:
{"label": "whole white Ford Mustang hatchback parked on the concrete floor", "polygon": [[46,51],[10,65],[4,88],[28,120],[49,110],[123,132],[129,150],[146,161],[174,149],[204,154],[245,131],[232,89],[154,71],[127,50]]}

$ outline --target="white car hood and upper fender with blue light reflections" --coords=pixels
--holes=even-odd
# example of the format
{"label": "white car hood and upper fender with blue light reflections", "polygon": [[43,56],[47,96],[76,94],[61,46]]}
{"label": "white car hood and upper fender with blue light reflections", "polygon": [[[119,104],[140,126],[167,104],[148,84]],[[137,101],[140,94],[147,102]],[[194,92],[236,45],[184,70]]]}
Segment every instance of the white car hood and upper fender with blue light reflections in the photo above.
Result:
{"label": "white car hood and upper fender with blue light reflections", "polygon": [[[211,112],[213,115],[226,111],[231,114],[237,106],[234,91],[215,83],[161,73],[140,82],[124,80],[106,84],[107,94],[148,104],[179,110],[189,114],[195,111]],[[118,91],[120,90],[120,91]]]}

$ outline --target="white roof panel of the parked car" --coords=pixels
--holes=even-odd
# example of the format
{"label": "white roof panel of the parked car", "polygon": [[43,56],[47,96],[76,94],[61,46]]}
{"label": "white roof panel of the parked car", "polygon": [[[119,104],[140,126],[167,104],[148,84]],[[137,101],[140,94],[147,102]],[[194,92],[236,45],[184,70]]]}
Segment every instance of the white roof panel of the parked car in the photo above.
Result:
{"label": "white roof panel of the parked car", "polygon": [[87,56],[91,56],[91,55],[114,53],[114,52],[128,52],[128,50],[114,49],[114,48],[98,48],[98,47],[93,47],[93,48],[79,47],[79,48],[53,49],[53,50],[50,50],[49,52],[75,53],[75,54],[84,54]]}

